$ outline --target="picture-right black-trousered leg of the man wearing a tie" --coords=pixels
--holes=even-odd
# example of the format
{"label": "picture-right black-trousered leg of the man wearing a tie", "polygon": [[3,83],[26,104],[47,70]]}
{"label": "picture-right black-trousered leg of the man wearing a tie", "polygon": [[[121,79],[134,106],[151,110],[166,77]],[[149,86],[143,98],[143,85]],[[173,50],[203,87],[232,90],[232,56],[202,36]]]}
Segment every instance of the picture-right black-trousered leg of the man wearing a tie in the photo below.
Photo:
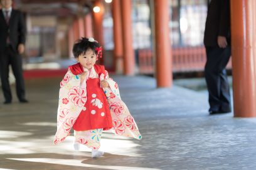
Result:
{"label": "picture-right black-trousered leg of the man wearing a tie", "polygon": [[13,52],[11,55],[10,63],[11,68],[13,69],[14,77],[16,79],[16,94],[18,96],[18,99],[21,102],[26,102],[21,56]]}

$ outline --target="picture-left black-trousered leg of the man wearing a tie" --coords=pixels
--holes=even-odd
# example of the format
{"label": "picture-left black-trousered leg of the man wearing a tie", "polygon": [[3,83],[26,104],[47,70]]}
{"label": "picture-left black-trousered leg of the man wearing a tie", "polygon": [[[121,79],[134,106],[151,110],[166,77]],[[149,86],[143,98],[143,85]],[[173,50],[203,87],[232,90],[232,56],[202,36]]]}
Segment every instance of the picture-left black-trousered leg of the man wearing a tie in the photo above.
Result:
{"label": "picture-left black-trousered leg of the man wearing a tie", "polygon": [[4,104],[11,103],[11,88],[9,84],[9,50],[6,48],[6,51],[1,53],[0,56],[0,75],[1,75],[1,84],[4,94],[5,102]]}

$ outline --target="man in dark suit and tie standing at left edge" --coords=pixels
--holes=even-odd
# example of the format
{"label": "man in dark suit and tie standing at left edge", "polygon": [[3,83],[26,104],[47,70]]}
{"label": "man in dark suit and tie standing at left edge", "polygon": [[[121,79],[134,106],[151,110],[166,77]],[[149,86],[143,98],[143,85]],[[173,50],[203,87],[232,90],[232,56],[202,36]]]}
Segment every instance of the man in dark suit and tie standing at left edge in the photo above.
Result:
{"label": "man in dark suit and tie standing at left edge", "polygon": [[12,0],[0,0],[0,76],[4,93],[4,104],[12,101],[9,86],[9,65],[16,79],[16,93],[21,103],[28,103],[24,98],[24,78],[21,55],[24,53],[26,25],[23,14],[11,8]]}

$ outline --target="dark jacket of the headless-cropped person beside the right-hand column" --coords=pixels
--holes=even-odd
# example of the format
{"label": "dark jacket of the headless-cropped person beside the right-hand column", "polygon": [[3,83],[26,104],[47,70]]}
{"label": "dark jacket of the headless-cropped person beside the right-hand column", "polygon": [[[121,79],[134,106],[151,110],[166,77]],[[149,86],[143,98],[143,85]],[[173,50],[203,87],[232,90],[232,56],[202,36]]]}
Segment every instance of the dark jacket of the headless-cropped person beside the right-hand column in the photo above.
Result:
{"label": "dark jacket of the headless-cropped person beside the right-hand column", "polygon": [[230,1],[211,0],[205,24],[205,46],[218,46],[217,37],[225,36],[230,44]]}

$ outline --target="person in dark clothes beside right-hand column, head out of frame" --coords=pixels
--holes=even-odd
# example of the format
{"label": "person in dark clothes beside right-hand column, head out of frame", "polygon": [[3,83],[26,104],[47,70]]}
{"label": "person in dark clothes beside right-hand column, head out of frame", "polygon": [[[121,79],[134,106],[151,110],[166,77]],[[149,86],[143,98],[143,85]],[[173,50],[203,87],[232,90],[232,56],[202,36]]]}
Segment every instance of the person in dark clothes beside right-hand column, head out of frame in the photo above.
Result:
{"label": "person in dark clothes beside right-hand column, head out of frame", "polygon": [[225,70],[231,55],[229,0],[211,0],[206,17],[204,44],[209,113],[230,113],[230,89]]}

